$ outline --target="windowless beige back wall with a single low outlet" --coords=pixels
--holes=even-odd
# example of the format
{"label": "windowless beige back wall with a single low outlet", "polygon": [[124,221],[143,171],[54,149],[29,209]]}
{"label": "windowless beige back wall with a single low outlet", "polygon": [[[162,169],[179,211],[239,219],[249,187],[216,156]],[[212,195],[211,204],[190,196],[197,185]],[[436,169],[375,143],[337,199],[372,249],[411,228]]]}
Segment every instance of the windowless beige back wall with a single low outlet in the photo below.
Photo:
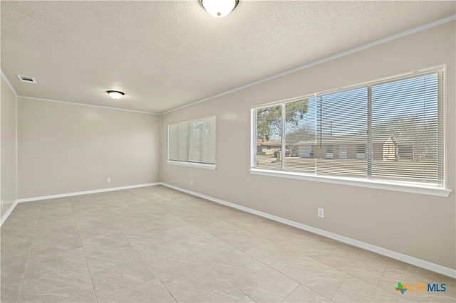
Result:
{"label": "windowless beige back wall with a single low outlet", "polygon": [[19,198],[160,181],[159,115],[18,97],[18,120]]}

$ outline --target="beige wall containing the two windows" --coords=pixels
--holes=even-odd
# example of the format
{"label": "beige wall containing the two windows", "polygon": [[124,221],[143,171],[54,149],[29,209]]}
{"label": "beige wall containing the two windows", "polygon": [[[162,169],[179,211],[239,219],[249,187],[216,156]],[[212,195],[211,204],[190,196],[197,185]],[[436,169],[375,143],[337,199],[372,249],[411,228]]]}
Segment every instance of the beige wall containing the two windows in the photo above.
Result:
{"label": "beige wall containing the two windows", "polygon": [[[455,26],[445,23],[162,115],[162,182],[455,269]],[[443,63],[448,198],[249,174],[250,107]],[[217,115],[217,169],[166,164],[167,125],[209,115]],[[317,217],[318,207],[325,218]]]}

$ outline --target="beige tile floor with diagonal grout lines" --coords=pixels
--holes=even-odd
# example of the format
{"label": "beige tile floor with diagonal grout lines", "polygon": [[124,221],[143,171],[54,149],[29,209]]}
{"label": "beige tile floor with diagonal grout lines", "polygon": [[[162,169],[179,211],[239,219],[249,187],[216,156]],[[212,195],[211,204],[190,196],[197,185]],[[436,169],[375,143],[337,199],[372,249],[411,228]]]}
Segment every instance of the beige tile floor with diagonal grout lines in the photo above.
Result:
{"label": "beige tile floor with diagonal grout lines", "polygon": [[[395,290],[445,283],[446,292]],[[455,302],[455,280],[164,186],[21,203],[1,302]]]}

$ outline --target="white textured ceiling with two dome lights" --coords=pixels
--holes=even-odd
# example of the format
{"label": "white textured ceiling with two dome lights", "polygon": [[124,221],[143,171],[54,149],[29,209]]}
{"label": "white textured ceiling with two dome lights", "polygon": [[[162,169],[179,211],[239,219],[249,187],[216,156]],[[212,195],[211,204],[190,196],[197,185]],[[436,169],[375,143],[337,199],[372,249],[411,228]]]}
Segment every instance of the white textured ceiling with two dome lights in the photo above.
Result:
{"label": "white textured ceiling with two dome lights", "polygon": [[[1,1],[17,94],[166,112],[455,14],[456,1]],[[21,83],[16,75],[36,78]],[[125,96],[110,99],[106,90]]]}

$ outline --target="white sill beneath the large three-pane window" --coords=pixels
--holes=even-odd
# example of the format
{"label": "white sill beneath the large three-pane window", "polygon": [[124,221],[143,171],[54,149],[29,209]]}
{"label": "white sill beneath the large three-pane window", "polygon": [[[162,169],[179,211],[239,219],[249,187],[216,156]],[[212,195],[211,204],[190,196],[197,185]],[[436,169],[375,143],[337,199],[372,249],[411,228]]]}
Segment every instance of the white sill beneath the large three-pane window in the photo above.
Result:
{"label": "white sill beneath the large three-pane window", "polygon": [[383,189],[387,191],[402,191],[405,193],[420,193],[423,195],[447,197],[452,192],[450,189],[427,185],[427,184],[412,184],[405,182],[388,182],[369,179],[356,178],[338,178],[335,176],[311,176],[307,174],[299,174],[290,171],[270,171],[267,169],[250,169],[250,174],[261,176],[275,176],[280,178],[298,179],[314,182],[324,182],[331,184],[340,184],[348,186],[358,186],[367,188]]}

